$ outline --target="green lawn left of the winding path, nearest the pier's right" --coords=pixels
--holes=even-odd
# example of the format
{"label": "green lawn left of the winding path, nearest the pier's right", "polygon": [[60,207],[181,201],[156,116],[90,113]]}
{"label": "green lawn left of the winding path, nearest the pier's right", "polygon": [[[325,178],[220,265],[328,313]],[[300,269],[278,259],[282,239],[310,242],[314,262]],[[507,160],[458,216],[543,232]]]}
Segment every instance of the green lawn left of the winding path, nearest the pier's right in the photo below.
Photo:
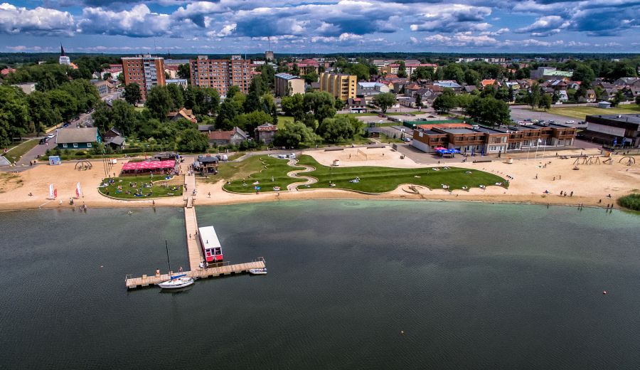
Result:
{"label": "green lawn left of the winding path, nearest the pier's right", "polygon": [[[253,183],[256,181],[260,183],[257,185],[262,188],[260,191],[273,191],[274,186],[279,186],[284,191],[287,190],[287,185],[301,181],[287,176],[287,172],[295,169],[287,165],[287,162],[287,159],[254,156],[240,163],[231,164],[234,166],[229,166],[230,168],[220,165],[219,175],[223,179],[231,179],[230,184],[225,184],[223,187],[225,190],[236,193],[254,193],[256,185]],[[212,179],[218,180],[220,177],[213,176]]]}

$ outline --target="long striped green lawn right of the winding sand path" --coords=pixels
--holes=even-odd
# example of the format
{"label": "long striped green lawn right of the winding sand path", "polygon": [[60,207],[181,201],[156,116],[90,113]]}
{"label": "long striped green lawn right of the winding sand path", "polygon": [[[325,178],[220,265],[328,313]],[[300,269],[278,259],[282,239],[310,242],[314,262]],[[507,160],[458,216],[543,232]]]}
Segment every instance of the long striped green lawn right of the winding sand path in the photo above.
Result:
{"label": "long striped green lawn right of the winding sand path", "polygon": [[[313,157],[307,155],[300,157],[299,164],[306,164],[316,168],[315,171],[305,174],[318,179],[316,184],[311,185],[312,189],[329,188],[329,181],[336,184],[334,189],[348,189],[367,193],[392,191],[400,184],[422,185],[430,189],[442,189],[442,184],[446,184],[449,185],[449,189],[453,190],[462,189],[463,186],[473,188],[479,185],[491,186],[496,182],[501,182],[504,187],[508,187],[508,183],[504,179],[494,174],[456,167],[450,167],[449,169],[439,167],[439,171],[434,171],[431,168],[329,167],[319,164]],[[467,173],[469,171],[471,173]],[[349,182],[349,180],[356,177],[360,178],[359,183]]]}

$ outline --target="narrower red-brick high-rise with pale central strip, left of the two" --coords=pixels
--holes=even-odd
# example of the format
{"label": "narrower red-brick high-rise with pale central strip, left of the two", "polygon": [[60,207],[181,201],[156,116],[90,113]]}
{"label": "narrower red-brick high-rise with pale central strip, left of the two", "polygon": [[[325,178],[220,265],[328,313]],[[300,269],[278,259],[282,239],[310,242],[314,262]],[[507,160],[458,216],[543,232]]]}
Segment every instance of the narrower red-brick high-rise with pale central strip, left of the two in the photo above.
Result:
{"label": "narrower red-brick high-rise with pale central strip, left of the two", "polygon": [[137,83],[140,86],[142,100],[146,100],[146,93],[154,86],[166,85],[164,79],[164,58],[157,56],[123,57],[122,73],[124,85]]}

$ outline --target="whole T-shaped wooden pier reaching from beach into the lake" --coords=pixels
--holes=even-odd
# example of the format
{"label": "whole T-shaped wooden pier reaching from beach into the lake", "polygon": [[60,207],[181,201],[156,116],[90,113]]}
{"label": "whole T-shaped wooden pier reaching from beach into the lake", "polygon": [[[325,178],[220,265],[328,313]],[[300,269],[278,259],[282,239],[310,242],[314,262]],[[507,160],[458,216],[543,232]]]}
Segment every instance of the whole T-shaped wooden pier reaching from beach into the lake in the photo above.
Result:
{"label": "whole T-shaped wooden pier reaching from beach into the lake", "polygon": [[[186,173],[186,171],[183,171]],[[193,279],[201,279],[203,277],[218,277],[223,275],[234,275],[240,273],[248,273],[252,268],[265,268],[265,258],[259,257],[256,260],[248,263],[238,263],[235,265],[229,262],[213,263],[209,264],[209,268],[200,268],[200,263],[203,262],[202,248],[200,245],[200,238],[198,238],[198,219],[196,218],[196,208],[193,206],[193,189],[196,189],[195,176],[185,175],[185,185],[187,190],[184,194],[186,205],[184,207],[184,226],[187,238],[187,252],[189,255],[189,271],[183,271],[181,273],[171,272],[175,275],[187,275],[193,277]],[[190,195],[191,194],[191,195]],[[142,277],[132,277],[127,275],[124,279],[127,289],[134,289],[137,287],[146,287],[149,285],[156,285],[160,282],[171,279],[170,274],[158,274],[158,275],[142,275]]]}

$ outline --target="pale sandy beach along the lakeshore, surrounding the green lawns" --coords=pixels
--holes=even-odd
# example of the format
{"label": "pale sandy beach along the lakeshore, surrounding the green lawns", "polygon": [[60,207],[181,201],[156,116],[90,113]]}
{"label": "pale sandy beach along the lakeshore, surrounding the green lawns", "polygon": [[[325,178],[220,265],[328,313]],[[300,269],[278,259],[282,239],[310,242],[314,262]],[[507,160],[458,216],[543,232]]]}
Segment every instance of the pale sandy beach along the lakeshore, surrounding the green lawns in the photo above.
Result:
{"label": "pale sandy beach along the lakeshore, surrounding the green lawns", "polygon": [[[324,152],[321,150],[306,151],[304,154],[313,156],[319,163],[331,165],[335,159],[340,161],[340,166],[390,166],[390,167],[432,167],[438,166],[437,158],[433,163],[418,164],[408,157],[400,159],[398,152],[389,147],[384,149],[369,149],[364,155],[356,148],[346,148],[339,152]],[[599,154],[599,151],[562,152],[563,155]],[[477,158],[477,157],[476,157]],[[602,206],[615,203],[619,196],[629,194],[640,189],[640,164],[627,166],[626,162],[618,163],[622,156],[613,156],[612,164],[580,164],[579,170],[574,170],[575,159],[560,159],[555,155],[544,159],[526,159],[516,157],[513,164],[506,163],[503,157],[485,157],[492,159],[489,163],[473,163],[471,158],[464,163],[447,163],[448,166],[458,166],[469,169],[488,171],[499,176],[511,176],[509,189],[498,186],[489,186],[486,190],[471,189],[470,191],[444,191],[443,189],[418,189],[420,194],[413,194],[408,186],[403,184],[384,194],[359,194],[353,191],[337,189],[317,189],[303,191],[281,191],[279,196],[274,192],[262,194],[230,194],[223,191],[223,181],[208,182],[198,180],[196,188],[197,205],[232,204],[244,202],[262,201],[287,201],[300,199],[397,199],[397,200],[442,200],[442,201],[482,201],[482,202],[511,202],[511,203],[541,203],[550,205],[577,206]],[[600,157],[600,160],[604,160]],[[185,161],[188,163],[189,161]],[[87,207],[149,207],[149,206],[183,206],[182,197],[170,199],[151,199],[122,201],[102,196],[97,190],[100,181],[105,177],[102,162],[93,162],[90,170],[78,171],[75,162],[63,163],[60,166],[48,166],[39,164],[31,169],[22,171],[12,176],[5,177],[2,181],[2,193],[0,193],[0,210],[18,210],[33,208],[69,208],[69,199],[75,196],[75,185],[80,182],[83,196],[75,201],[76,206]],[[118,161],[110,171],[111,174],[119,174],[123,162]],[[18,176],[16,178],[15,176]],[[48,185],[54,184],[58,189],[58,198],[55,201],[47,199]],[[548,194],[545,194],[548,191]],[[560,191],[572,196],[560,196]],[[33,194],[29,196],[29,194]],[[210,197],[208,197],[210,193]],[[608,195],[611,195],[611,198]],[[60,204],[60,200],[62,204]]]}

